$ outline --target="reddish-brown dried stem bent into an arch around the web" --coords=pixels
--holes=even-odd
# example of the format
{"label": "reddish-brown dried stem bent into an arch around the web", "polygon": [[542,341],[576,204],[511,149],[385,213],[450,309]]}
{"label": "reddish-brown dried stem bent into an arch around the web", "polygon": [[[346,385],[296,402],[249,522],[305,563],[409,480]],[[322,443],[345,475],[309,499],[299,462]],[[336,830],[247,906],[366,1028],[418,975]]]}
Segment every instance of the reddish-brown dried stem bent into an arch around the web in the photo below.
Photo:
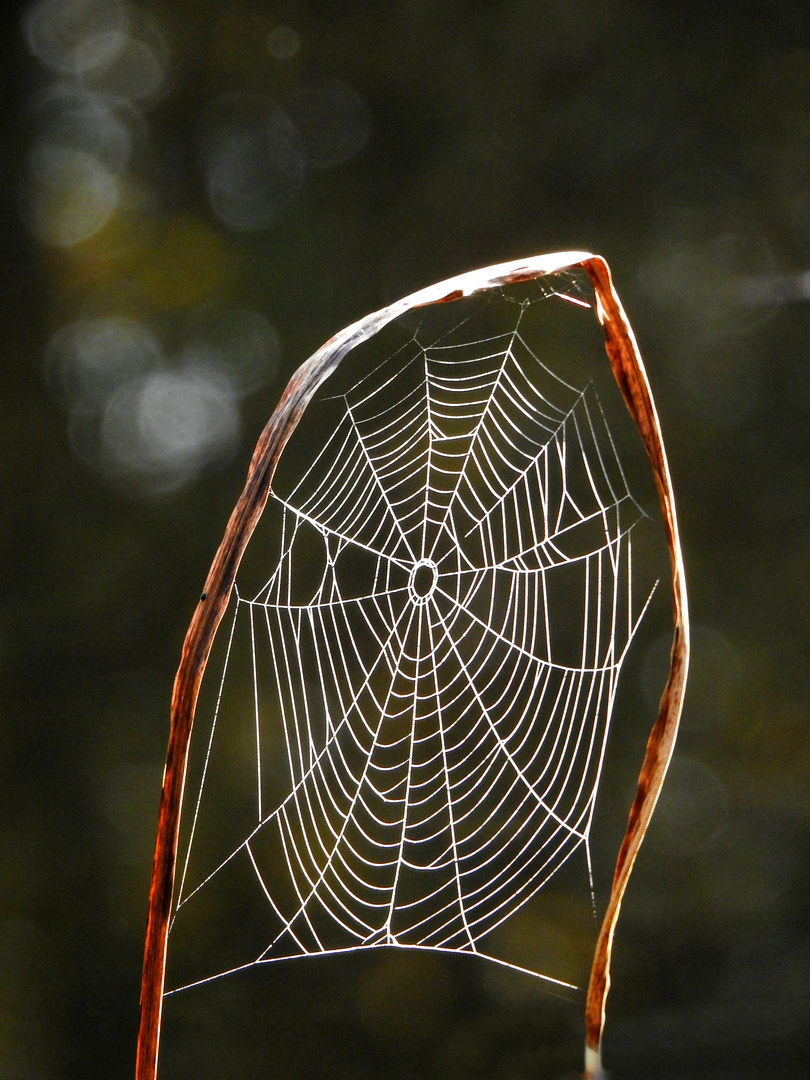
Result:
{"label": "reddish-brown dried stem bent into an arch around the web", "polygon": [[177,836],[194,708],[205,665],[219,622],[230,598],[239,564],[247,541],[267,502],[270,483],[284,446],[318,387],[342,357],[410,308],[447,302],[473,293],[519,281],[529,281],[559,270],[583,268],[597,301],[597,315],[605,328],[608,357],[638,430],[658,485],[673,564],[675,639],[670,678],[650,734],[638,791],[630,814],[627,833],[617,861],[608,909],[603,921],[585,1009],[586,1071],[600,1071],[599,1043],[605,1020],[605,1000],[610,985],[610,949],[621,899],[636,853],[647,829],[677,731],[688,662],[689,632],[683,559],[675,502],[661,430],[647,375],[604,259],[584,252],[536,256],[461,274],[450,281],[405,297],[341,330],[318,350],[291,379],[254,451],[245,488],[240,496],[222,542],[212,564],[183,646],[172,694],[172,723],[158,815],[158,836],[149,890],[144,974],[140,988],[136,1080],[156,1080],[165,978],[166,937],[174,889]]}

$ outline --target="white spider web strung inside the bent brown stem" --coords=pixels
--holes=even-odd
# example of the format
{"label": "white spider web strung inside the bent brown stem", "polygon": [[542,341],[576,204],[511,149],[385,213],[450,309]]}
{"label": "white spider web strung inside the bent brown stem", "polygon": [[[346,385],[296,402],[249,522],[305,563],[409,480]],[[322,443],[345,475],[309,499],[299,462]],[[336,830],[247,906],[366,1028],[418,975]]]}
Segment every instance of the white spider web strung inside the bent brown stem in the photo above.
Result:
{"label": "white spider web strung inside the bent brown stem", "polygon": [[[302,477],[271,492],[276,557],[259,589],[234,588],[176,901],[177,917],[239,863],[265,936],[176,989],[375,946],[507,963],[487,936],[580,848],[590,874],[646,607],[642,511],[593,386],[532,351],[525,307],[473,341],[463,325],[429,345],[417,332],[332,400],[339,419]],[[192,875],[240,632],[253,794],[240,842]]]}

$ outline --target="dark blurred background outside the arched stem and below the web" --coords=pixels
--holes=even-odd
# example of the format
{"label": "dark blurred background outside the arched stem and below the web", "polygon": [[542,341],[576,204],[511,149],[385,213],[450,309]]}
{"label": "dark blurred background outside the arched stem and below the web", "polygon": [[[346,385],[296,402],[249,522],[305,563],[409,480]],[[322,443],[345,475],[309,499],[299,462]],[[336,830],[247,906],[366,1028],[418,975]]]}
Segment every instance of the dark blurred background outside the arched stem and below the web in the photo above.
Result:
{"label": "dark blurred background outside the arched stem and below the web", "polygon": [[[172,678],[287,377],[399,295],[566,248],[607,257],[646,356],[696,624],[606,1064],[805,1075],[810,10],[33,0],[2,19],[0,1076],[132,1075]],[[627,693],[651,719],[666,646],[645,648]],[[266,981],[261,1053],[219,1002],[205,1075],[579,1068],[579,1004],[430,958],[337,964]]]}

